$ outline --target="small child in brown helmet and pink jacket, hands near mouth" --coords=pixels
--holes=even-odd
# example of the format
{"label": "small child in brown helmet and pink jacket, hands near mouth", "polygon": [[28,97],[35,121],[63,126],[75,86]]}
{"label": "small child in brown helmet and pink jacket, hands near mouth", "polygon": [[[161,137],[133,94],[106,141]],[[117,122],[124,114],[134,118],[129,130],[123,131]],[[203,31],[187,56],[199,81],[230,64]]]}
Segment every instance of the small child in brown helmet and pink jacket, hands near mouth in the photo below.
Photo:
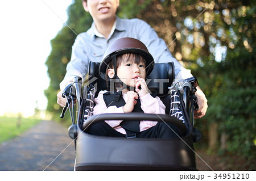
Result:
{"label": "small child in brown helmet and pink jacket, hands near mouth", "polygon": [[[148,93],[146,77],[154,68],[154,59],[146,46],[137,39],[122,38],[106,50],[100,74],[110,90],[100,91],[94,99],[93,114],[144,112],[165,114],[166,107],[158,96]],[[114,83],[111,83],[114,80]],[[114,85],[114,87],[112,87]],[[163,121],[104,121],[93,124],[90,134],[112,137],[171,138],[177,137]]]}

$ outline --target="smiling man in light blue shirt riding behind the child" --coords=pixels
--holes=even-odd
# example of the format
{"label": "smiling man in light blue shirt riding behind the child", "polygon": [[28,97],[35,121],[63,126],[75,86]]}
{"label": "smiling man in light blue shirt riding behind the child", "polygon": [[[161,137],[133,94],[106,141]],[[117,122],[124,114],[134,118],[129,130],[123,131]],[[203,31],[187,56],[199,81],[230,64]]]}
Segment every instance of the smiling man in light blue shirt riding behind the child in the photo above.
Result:
{"label": "smiling man in light blue shirt riding behind the child", "polygon": [[[73,77],[88,72],[88,62],[101,62],[106,48],[113,41],[122,37],[133,37],[141,40],[154,57],[155,63],[174,62],[175,78],[192,77],[190,70],[185,69],[172,57],[166,43],[146,22],[139,19],[120,19],[115,13],[119,0],[82,0],[82,6],[93,18],[92,27],[80,33],[72,47],[71,61],[67,65],[67,73],[60,83],[57,103],[64,107],[66,100],[61,94],[65,85],[72,82]],[[200,87],[197,87],[196,97],[199,110],[195,111],[195,119],[203,117],[207,111],[207,99]]]}

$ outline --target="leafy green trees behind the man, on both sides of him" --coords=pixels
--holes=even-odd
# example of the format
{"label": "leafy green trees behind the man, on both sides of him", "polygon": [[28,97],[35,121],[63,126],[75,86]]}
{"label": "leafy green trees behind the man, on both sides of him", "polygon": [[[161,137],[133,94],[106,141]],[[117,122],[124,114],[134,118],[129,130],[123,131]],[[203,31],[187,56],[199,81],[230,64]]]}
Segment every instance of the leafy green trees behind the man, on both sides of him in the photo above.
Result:
{"label": "leafy green trees behind the man, on both sides of him", "polygon": [[[70,61],[78,33],[92,18],[81,0],[69,7],[68,26],[51,41],[46,65],[51,83],[46,90],[48,111],[58,116],[59,83]],[[177,60],[199,79],[208,98],[208,112],[196,125],[207,137],[209,124],[218,123],[228,136],[227,151],[255,159],[255,3],[238,0],[123,0],[118,16],[148,22],[168,44]],[[71,30],[72,29],[72,30]]]}

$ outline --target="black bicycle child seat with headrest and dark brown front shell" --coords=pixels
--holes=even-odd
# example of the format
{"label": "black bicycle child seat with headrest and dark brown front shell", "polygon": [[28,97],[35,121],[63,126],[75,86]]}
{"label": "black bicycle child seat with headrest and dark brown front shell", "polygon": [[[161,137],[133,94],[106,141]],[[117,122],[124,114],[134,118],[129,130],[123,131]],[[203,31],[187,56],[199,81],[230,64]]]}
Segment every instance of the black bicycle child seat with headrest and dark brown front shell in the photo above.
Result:
{"label": "black bicycle child seat with headrest and dark brown front shell", "polygon": [[[89,63],[89,82],[94,85],[96,95],[98,91],[106,90],[106,82],[98,74],[99,65],[100,63],[97,62]],[[88,100],[82,100],[77,119],[75,170],[196,170],[191,121],[185,120],[186,123],[184,124],[179,119],[168,115],[170,111],[168,87],[174,81],[174,64],[155,64],[147,81],[149,81],[148,88],[151,92],[157,92],[159,98],[166,105],[166,115],[108,113],[94,115],[84,121],[87,114],[86,106],[92,106],[90,99],[93,95],[88,94]],[[180,138],[168,140],[127,139],[94,136],[86,133],[90,125],[98,121],[138,119],[172,123],[186,136],[182,140]]]}

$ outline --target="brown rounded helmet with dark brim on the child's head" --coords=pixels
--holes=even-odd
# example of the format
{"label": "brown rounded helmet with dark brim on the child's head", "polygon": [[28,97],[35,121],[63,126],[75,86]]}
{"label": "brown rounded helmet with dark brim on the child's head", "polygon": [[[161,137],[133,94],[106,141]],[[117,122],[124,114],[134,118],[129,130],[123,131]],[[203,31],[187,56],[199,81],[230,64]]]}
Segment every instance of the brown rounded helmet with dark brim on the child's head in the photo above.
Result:
{"label": "brown rounded helmet with dark brim on the child's head", "polygon": [[[154,58],[148,52],[147,47],[137,39],[133,39],[131,37],[124,37],[122,39],[114,41],[106,49],[104,58],[99,66],[101,78],[105,79],[106,69],[108,68],[109,62],[113,61],[113,58],[115,60],[115,57],[125,53],[137,53],[144,57],[146,61],[146,77],[151,73],[154,68]],[[115,73],[116,72],[117,71],[115,70]]]}

